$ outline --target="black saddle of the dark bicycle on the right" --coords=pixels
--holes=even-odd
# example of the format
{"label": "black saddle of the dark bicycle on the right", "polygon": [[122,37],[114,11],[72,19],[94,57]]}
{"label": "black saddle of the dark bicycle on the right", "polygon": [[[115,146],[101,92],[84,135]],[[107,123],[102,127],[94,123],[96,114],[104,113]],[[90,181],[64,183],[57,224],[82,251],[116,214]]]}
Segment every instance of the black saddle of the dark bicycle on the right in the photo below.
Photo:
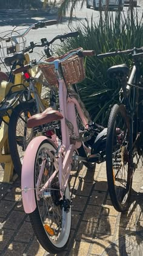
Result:
{"label": "black saddle of the dark bicycle on the right", "polygon": [[121,64],[121,65],[116,65],[116,66],[111,66],[110,68],[107,69],[107,75],[108,77],[112,77],[113,74],[129,74],[130,69],[126,64]]}

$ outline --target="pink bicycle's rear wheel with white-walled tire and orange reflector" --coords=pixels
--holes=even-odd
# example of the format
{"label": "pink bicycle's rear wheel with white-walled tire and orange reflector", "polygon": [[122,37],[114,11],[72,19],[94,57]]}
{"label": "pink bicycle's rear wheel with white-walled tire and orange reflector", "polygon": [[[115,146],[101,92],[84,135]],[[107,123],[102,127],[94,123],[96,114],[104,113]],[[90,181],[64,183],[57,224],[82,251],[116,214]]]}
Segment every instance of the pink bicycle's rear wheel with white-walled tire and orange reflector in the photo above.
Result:
{"label": "pink bicycle's rear wheel with white-walled tire and orange reflector", "polygon": [[[29,216],[36,238],[41,246],[51,254],[58,254],[63,252],[67,246],[71,230],[71,207],[67,213],[59,205],[61,194],[59,191],[58,172],[55,177],[52,178],[53,180],[51,181],[49,187],[47,187],[46,191],[50,191],[48,192],[48,197],[44,197],[44,193],[46,192],[40,194],[41,196],[39,198],[36,194],[36,191],[39,191],[42,188],[46,180],[49,178],[51,179],[51,176],[55,171],[54,161],[56,162],[56,160],[54,160],[54,152],[56,152],[56,147],[49,143],[49,141],[44,140],[41,144],[39,144],[36,155],[33,156],[35,157],[35,171],[33,178],[35,180],[36,188],[36,209],[34,212],[30,213]],[[36,187],[37,180],[39,180],[39,164],[42,164],[41,161],[43,153],[44,158],[46,158],[46,162],[42,172],[41,183],[39,184],[39,187]],[[51,155],[53,155],[53,157]],[[65,198],[70,199],[70,191],[68,187],[65,192]],[[44,214],[44,207],[46,208],[46,214]],[[44,217],[42,216],[42,213]],[[46,225],[48,226],[48,229]],[[51,234],[52,232],[54,232],[54,235]]]}

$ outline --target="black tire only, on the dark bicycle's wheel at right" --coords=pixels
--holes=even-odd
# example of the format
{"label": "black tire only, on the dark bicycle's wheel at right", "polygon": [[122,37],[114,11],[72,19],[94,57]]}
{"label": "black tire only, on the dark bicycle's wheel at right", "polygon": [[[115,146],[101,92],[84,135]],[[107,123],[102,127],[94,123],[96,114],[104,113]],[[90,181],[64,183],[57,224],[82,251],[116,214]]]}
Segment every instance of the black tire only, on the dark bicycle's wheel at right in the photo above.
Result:
{"label": "black tire only, on the dark bicycle's wheel at right", "polygon": [[[130,193],[131,193],[131,184],[132,184],[132,175],[131,173],[127,174],[127,182],[128,185],[128,196],[127,200],[125,201],[125,204],[122,205],[118,201],[118,198],[116,196],[116,191],[115,191],[115,182],[114,182],[114,177],[113,177],[113,163],[112,163],[112,141],[113,141],[113,129],[115,127],[115,121],[116,121],[116,116],[118,115],[118,112],[121,113],[121,105],[115,104],[113,105],[113,108],[111,109],[110,117],[108,119],[108,128],[107,128],[107,140],[106,140],[106,169],[107,169],[107,183],[108,183],[108,191],[110,194],[111,202],[115,209],[118,212],[124,212],[127,210],[128,207],[128,202],[130,200]],[[122,113],[124,112],[124,115],[126,115],[125,112],[125,107],[122,105]],[[127,120],[126,120],[127,121]],[[131,168],[128,168],[131,170]],[[130,179],[131,177],[131,179]]]}

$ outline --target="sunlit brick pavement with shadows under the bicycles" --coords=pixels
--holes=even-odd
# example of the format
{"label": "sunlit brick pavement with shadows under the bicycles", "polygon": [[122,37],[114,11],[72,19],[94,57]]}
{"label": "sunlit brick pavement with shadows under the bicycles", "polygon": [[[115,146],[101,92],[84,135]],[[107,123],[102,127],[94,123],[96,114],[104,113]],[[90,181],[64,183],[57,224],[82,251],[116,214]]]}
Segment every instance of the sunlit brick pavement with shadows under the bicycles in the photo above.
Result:
{"label": "sunlit brick pavement with shadows under the bicycles", "polygon": [[[133,177],[130,208],[118,213],[107,193],[105,164],[95,172],[82,168],[73,193],[72,229],[67,251],[61,255],[142,255],[142,165]],[[0,171],[0,179],[2,171]],[[75,180],[72,172],[71,187]],[[0,255],[46,256],[22,208],[20,181],[0,183]]]}

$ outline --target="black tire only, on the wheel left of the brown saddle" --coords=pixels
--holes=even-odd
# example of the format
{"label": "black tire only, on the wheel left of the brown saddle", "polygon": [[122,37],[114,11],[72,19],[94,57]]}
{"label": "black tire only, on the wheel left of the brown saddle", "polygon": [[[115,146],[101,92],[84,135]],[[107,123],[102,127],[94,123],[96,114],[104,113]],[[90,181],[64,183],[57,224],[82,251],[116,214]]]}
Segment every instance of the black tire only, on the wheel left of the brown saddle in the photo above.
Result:
{"label": "black tire only, on the wheel left of the brown saddle", "polygon": [[13,110],[12,115],[10,115],[10,121],[8,124],[8,144],[10,147],[10,155],[12,157],[15,172],[18,174],[19,177],[21,177],[22,164],[19,158],[18,148],[16,143],[16,124],[17,124],[20,113],[22,113],[24,110],[32,110],[34,105],[35,105],[35,102],[19,103],[19,105],[17,105]]}

